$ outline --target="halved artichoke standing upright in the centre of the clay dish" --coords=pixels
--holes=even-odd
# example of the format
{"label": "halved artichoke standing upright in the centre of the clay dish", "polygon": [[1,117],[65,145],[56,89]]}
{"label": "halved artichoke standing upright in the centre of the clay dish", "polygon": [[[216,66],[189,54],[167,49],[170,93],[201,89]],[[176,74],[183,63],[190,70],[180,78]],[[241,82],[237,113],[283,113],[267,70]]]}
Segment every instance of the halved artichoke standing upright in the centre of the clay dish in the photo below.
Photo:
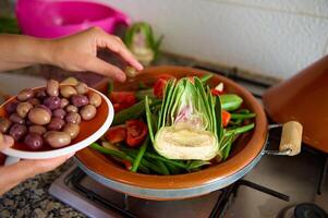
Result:
{"label": "halved artichoke standing upright in the centre of the clay dish", "polygon": [[215,99],[198,77],[174,83],[167,85],[154,147],[168,159],[209,160],[219,153]]}

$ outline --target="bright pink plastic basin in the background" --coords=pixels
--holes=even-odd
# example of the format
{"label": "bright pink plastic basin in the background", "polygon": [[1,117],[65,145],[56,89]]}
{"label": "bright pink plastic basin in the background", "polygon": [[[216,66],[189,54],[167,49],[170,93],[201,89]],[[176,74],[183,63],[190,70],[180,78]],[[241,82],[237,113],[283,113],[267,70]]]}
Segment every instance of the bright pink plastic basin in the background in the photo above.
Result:
{"label": "bright pink plastic basin in the background", "polygon": [[99,26],[112,34],[130,19],[108,5],[87,1],[17,0],[15,13],[23,34],[56,38]]}

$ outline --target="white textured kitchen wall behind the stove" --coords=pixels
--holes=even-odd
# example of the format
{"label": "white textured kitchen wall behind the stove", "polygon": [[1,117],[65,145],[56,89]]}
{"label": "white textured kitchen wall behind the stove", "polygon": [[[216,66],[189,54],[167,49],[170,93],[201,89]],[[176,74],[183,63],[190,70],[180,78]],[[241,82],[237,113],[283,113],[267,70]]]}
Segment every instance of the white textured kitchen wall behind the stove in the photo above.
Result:
{"label": "white textured kitchen wall behind the stove", "polygon": [[286,78],[328,53],[327,0],[102,1],[199,60]]}

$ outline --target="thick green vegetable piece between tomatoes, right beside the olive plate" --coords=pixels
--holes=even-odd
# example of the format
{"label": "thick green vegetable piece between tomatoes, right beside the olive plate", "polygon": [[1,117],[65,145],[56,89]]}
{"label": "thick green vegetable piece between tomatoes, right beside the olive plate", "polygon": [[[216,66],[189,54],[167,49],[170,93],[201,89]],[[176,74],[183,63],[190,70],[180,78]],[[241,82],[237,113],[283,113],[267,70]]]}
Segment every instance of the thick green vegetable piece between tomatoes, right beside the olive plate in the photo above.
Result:
{"label": "thick green vegetable piece between tomatoes, right beside the olive plate", "polygon": [[125,123],[127,120],[138,119],[145,112],[145,101],[142,100],[130,108],[121,110],[114,116],[112,125]]}

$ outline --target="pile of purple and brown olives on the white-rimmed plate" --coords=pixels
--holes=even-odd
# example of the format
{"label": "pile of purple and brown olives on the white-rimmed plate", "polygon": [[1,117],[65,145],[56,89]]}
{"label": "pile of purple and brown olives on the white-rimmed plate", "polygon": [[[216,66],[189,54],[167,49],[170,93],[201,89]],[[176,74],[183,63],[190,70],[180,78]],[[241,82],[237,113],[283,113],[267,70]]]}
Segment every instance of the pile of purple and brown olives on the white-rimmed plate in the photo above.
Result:
{"label": "pile of purple and brown olives on the white-rimmed plate", "polygon": [[4,106],[8,117],[0,117],[0,131],[31,150],[63,147],[78,135],[82,120],[95,118],[100,105],[100,95],[88,92],[85,83],[60,86],[49,80],[45,88],[23,89]]}

